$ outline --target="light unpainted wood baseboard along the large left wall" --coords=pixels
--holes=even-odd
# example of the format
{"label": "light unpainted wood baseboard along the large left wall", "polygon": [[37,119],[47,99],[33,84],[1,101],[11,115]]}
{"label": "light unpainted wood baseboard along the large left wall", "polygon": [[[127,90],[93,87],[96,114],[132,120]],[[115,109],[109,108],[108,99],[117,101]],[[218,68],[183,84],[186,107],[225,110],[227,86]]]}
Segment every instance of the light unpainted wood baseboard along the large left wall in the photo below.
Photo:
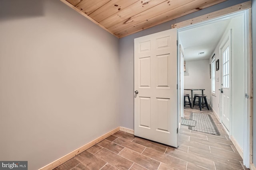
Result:
{"label": "light unpainted wood baseboard along the large left wall", "polygon": [[52,169],[56,168],[57,166],[60,166],[64,162],[70,160],[71,158],[75,157],[76,155],[80,154],[81,152],[84,152],[84,150],[89,149],[90,147],[96,145],[100,141],[103,141],[104,139],[106,139],[110,135],[113,135],[114,133],[116,133],[119,130],[120,130],[120,127],[117,127],[116,129],[113,129],[112,131],[110,131],[110,132],[98,137],[97,139],[94,139],[93,141],[85,144],[84,146],[66,154],[65,156],[62,156],[61,158],[59,158],[57,160],[54,160],[52,163],[40,168],[39,170],[52,170]]}

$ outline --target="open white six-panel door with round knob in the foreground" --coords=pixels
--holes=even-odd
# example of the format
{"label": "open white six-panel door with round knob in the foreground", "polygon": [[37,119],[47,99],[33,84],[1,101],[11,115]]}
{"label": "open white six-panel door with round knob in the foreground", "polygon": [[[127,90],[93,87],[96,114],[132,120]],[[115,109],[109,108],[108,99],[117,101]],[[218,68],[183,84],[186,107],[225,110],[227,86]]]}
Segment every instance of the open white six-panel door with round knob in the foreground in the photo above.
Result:
{"label": "open white six-panel door with round knob in the foreground", "polygon": [[134,39],[135,136],[178,147],[177,82],[177,29]]}

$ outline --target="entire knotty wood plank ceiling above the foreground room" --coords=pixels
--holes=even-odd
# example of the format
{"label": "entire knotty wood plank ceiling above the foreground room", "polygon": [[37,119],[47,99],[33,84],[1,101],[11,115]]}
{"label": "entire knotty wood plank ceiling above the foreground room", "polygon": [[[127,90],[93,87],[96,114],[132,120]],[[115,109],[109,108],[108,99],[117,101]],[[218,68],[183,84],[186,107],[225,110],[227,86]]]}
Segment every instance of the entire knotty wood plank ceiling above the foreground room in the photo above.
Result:
{"label": "entire knotty wood plank ceiling above the foreground room", "polygon": [[116,37],[122,38],[226,0],[61,1]]}

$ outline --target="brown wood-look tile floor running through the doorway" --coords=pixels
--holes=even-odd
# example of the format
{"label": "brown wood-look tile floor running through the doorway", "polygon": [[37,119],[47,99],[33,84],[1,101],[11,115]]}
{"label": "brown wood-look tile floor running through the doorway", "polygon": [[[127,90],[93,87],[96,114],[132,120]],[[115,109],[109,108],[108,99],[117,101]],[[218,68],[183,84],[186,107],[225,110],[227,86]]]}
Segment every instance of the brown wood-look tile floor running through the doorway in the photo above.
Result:
{"label": "brown wood-look tile floor running through the doorway", "polygon": [[54,170],[245,170],[224,127],[212,111],[184,109],[212,116],[220,136],[189,130],[181,125],[180,147],[174,149],[118,131]]}

